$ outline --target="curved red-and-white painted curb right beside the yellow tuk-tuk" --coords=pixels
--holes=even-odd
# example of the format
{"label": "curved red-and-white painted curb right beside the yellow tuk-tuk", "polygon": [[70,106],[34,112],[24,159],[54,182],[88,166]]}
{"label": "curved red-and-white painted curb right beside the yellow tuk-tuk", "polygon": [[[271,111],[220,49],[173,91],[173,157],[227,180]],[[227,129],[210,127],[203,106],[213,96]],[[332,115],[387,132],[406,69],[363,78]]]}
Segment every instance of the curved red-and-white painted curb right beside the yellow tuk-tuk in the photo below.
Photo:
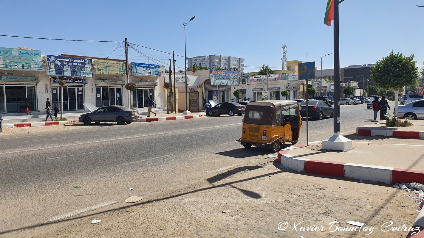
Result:
{"label": "curved red-and-white painted curb right beside the yellow tuk-tuk", "polygon": [[305,159],[289,153],[293,148],[306,146],[306,143],[290,146],[278,153],[278,162],[283,167],[300,172],[319,175],[329,175],[358,180],[368,180],[379,183],[417,182],[424,183],[424,171],[406,170],[393,167],[368,164],[343,163]]}

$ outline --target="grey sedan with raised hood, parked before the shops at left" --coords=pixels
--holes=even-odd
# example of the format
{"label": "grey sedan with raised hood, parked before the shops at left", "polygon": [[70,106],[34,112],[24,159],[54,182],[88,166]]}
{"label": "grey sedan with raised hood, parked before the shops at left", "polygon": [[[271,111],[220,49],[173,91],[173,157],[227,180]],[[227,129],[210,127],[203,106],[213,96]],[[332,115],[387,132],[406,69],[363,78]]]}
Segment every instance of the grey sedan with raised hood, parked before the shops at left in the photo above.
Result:
{"label": "grey sedan with raised hood, parked before the shops at left", "polygon": [[[86,104],[84,104],[86,106]],[[124,123],[131,124],[134,120],[140,118],[137,110],[131,110],[124,106],[106,106],[93,110],[92,112],[85,113],[78,118],[79,122],[89,125],[92,122],[116,122],[118,125]]]}

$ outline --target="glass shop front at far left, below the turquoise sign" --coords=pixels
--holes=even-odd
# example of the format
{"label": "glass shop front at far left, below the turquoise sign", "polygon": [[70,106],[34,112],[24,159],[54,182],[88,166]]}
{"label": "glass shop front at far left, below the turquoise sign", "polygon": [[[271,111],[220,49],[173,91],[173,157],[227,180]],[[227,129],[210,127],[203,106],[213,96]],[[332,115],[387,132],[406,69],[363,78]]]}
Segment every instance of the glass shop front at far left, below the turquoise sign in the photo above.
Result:
{"label": "glass shop front at far left, below the turquoise sign", "polygon": [[36,83],[38,77],[0,77],[0,113],[25,112],[26,101],[29,110],[37,111]]}

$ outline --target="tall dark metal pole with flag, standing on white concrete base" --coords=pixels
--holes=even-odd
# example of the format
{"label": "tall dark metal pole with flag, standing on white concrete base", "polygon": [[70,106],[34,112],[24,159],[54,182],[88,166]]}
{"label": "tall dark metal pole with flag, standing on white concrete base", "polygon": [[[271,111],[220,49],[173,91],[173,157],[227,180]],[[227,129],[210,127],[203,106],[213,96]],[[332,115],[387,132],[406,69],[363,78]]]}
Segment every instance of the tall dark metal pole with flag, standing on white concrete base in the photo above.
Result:
{"label": "tall dark metal pole with flag, standing on white concrete base", "polygon": [[339,0],[334,3],[334,111],[333,132],[340,133]]}

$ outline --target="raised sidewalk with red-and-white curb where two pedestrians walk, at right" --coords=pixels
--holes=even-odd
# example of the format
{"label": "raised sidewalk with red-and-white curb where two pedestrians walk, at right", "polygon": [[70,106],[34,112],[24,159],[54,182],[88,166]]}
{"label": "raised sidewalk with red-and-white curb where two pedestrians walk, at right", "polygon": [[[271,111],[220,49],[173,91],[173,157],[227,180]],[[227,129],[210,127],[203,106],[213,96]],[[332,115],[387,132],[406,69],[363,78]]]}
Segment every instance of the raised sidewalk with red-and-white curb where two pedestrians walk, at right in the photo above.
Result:
{"label": "raised sidewalk with red-and-white curb where two pedestrians walk, at right", "polygon": [[359,136],[376,137],[402,137],[410,139],[424,139],[424,120],[410,120],[412,126],[387,127],[385,121],[368,124],[356,128]]}

